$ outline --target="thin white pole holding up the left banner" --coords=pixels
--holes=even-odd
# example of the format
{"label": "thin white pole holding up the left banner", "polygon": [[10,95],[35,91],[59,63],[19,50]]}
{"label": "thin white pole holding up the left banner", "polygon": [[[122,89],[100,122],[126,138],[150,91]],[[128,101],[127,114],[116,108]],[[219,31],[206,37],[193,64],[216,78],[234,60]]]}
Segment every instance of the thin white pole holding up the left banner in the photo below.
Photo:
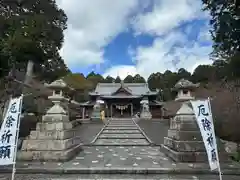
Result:
{"label": "thin white pole holding up the left banner", "polygon": [[13,169],[12,169],[12,178],[11,180],[14,180],[15,178],[15,173],[16,173],[16,159],[17,159],[17,143],[18,143],[18,137],[19,137],[19,129],[20,129],[20,120],[21,120],[21,115],[22,115],[22,101],[23,101],[23,94],[20,96],[21,97],[21,102],[19,105],[19,117],[18,117],[18,124],[17,124],[17,131],[16,131],[16,141],[15,141],[15,147],[14,147],[14,158],[13,158]]}

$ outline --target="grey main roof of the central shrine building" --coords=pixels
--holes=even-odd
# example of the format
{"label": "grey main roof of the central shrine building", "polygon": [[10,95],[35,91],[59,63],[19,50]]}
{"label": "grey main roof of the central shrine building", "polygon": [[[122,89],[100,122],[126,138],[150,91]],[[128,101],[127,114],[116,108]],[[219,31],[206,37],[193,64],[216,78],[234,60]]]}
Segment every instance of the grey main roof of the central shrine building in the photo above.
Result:
{"label": "grey main roof of the central shrine building", "polygon": [[132,96],[157,95],[157,91],[150,91],[147,83],[98,83],[95,91],[90,95],[112,96],[120,87],[127,88]]}

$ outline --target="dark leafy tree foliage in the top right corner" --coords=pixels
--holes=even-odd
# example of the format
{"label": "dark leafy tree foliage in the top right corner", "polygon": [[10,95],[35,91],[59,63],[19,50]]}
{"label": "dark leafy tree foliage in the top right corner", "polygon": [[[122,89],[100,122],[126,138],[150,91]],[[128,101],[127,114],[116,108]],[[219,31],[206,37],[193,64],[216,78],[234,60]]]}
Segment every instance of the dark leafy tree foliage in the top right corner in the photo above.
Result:
{"label": "dark leafy tree foliage in the top right corner", "polygon": [[210,11],[213,55],[231,57],[240,51],[240,3],[238,0],[202,0]]}

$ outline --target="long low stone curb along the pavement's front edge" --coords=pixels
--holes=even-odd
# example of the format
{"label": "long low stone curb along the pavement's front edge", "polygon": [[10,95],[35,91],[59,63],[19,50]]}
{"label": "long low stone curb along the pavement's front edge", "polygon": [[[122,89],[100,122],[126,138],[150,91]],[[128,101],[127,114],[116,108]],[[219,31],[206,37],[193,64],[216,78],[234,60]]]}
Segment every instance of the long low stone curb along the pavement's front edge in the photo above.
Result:
{"label": "long low stone curb along the pavement's front edge", "polygon": [[[12,168],[1,168],[0,173],[12,173]],[[172,168],[17,168],[17,174],[172,174],[172,175],[218,175],[209,169]],[[222,170],[223,175],[239,175],[239,169]]]}

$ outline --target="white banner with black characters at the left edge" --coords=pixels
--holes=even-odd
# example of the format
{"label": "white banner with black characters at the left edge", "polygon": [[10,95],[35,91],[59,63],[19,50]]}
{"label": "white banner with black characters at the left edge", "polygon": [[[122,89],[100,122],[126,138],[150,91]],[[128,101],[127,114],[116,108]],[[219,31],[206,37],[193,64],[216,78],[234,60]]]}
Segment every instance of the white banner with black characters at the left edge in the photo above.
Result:
{"label": "white banner with black characters at the left edge", "polygon": [[0,130],[0,165],[14,164],[21,110],[22,96],[11,99]]}

